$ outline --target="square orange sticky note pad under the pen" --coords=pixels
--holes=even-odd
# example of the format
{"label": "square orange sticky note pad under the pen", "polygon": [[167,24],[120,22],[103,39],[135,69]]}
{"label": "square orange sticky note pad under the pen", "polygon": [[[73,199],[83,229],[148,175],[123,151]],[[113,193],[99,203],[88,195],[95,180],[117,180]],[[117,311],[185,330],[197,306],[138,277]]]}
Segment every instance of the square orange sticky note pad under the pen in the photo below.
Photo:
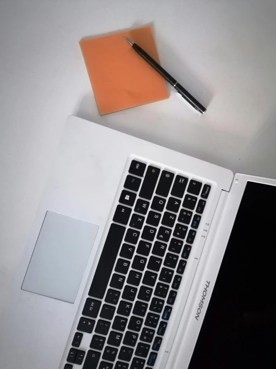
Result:
{"label": "square orange sticky note pad under the pen", "polygon": [[150,26],[80,41],[100,114],[169,97],[165,80],[125,40],[159,62]]}

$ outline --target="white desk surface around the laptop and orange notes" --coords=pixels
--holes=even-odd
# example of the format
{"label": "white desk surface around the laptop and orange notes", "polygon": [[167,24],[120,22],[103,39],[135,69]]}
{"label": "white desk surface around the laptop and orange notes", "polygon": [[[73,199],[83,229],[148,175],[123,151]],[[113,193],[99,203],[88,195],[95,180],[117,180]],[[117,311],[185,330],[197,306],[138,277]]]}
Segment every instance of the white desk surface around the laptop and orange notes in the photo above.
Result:
{"label": "white desk surface around the laptop and orange notes", "polygon": [[[68,115],[276,178],[275,0],[0,0],[0,307]],[[162,65],[208,109],[100,116],[82,37],[151,24]]]}

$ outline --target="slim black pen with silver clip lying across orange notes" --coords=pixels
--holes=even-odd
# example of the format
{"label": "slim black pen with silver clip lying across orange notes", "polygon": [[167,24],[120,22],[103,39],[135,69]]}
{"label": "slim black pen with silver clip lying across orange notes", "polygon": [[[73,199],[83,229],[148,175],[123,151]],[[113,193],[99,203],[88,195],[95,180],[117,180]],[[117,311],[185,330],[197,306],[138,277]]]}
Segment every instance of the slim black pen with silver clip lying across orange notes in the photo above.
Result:
{"label": "slim black pen with silver clip lying across orange notes", "polygon": [[[125,36],[124,36],[125,37]],[[199,111],[201,114],[205,113],[206,108],[201,105],[184,87],[181,86],[164,68],[161,67],[151,56],[148,55],[138,44],[131,41],[128,37],[125,39],[132,45],[132,48],[149,64],[154,68],[162,77],[165,78],[176,91],[193,107],[195,110]]]}

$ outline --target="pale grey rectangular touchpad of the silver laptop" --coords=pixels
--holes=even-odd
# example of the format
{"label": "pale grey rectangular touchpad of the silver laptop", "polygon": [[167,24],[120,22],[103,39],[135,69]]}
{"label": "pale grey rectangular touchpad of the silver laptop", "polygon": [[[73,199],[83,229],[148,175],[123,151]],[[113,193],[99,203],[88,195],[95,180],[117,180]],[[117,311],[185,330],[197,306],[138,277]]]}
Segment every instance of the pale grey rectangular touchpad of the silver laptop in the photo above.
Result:
{"label": "pale grey rectangular touchpad of the silver laptop", "polygon": [[74,303],[98,229],[47,211],[22,290]]}

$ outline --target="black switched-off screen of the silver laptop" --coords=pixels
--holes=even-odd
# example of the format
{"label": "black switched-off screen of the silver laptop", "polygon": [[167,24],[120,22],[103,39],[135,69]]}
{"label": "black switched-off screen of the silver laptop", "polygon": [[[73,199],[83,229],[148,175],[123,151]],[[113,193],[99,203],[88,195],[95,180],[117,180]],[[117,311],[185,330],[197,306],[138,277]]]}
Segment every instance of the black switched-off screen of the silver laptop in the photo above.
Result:
{"label": "black switched-off screen of the silver laptop", "polygon": [[276,187],[248,182],[189,369],[276,368]]}

